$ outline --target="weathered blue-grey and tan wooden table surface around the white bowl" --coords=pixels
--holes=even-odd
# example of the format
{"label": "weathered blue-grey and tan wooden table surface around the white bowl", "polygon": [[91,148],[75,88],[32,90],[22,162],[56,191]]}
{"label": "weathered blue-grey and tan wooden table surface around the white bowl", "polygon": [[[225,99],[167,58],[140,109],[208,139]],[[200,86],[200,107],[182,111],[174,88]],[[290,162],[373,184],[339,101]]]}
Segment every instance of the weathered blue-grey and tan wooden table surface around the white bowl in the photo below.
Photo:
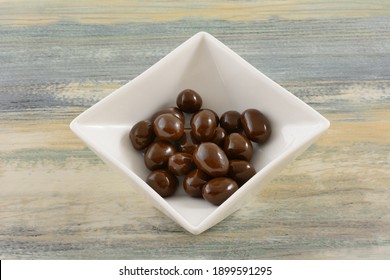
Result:
{"label": "weathered blue-grey and tan wooden table surface around the white bowl", "polygon": [[[207,31],[331,121],[201,235],[69,130]],[[1,259],[390,259],[390,1],[0,1]]]}

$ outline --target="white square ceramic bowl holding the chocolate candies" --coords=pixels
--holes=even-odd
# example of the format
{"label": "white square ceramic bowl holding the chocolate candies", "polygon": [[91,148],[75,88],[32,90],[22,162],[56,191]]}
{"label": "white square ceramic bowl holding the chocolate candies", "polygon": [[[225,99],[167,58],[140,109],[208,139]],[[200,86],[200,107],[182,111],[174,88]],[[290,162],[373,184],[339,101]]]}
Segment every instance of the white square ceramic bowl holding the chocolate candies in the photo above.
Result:
{"label": "white square ceramic bowl holding the chocolate candies", "polygon": [[[218,207],[188,196],[182,188],[172,197],[160,197],[145,183],[149,171],[128,138],[135,123],[176,106],[178,93],[186,88],[197,91],[203,107],[219,115],[256,108],[272,124],[269,141],[254,145],[251,163],[257,174]],[[129,186],[183,228],[199,234],[238,210],[325,132],[329,121],[216,38],[200,32],[80,114],[70,127],[102,160],[121,171]]]}

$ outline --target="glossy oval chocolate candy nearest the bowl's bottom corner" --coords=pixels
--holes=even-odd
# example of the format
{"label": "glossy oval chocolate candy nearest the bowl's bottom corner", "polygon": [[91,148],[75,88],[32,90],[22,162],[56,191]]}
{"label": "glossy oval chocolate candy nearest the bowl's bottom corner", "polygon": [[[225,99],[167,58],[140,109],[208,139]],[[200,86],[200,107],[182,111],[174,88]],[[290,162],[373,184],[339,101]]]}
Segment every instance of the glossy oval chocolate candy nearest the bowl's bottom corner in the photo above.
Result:
{"label": "glossy oval chocolate candy nearest the bowl's bottom corner", "polygon": [[214,205],[221,205],[235,191],[238,190],[237,183],[228,177],[218,177],[211,179],[204,185],[202,196]]}

